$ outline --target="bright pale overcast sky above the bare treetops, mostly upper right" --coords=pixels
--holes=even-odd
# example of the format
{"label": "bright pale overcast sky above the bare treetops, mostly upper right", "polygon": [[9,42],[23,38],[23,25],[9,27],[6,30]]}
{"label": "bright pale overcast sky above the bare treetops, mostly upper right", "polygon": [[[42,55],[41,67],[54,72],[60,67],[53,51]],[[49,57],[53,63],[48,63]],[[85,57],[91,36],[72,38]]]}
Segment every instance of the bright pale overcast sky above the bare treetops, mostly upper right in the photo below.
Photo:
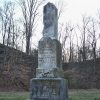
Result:
{"label": "bright pale overcast sky above the bare treetops, mostly upper right", "polygon": [[[16,1],[16,0],[0,0],[0,1]],[[63,3],[62,20],[69,20],[73,23],[79,22],[82,15],[95,16],[100,10],[100,0],[46,0],[53,2],[58,7]],[[45,3],[45,4],[46,4]],[[58,7],[59,8],[59,7]]]}

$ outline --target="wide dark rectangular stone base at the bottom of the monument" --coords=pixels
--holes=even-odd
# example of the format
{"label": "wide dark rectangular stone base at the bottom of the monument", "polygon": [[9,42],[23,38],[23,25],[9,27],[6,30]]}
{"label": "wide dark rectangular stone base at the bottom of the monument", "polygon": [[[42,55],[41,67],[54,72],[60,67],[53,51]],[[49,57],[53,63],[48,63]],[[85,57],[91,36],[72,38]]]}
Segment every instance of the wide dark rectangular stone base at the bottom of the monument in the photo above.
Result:
{"label": "wide dark rectangular stone base at the bottom of the monument", "polygon": [[30,100],[68,100],[68,88],[63,78],[31,79]]}

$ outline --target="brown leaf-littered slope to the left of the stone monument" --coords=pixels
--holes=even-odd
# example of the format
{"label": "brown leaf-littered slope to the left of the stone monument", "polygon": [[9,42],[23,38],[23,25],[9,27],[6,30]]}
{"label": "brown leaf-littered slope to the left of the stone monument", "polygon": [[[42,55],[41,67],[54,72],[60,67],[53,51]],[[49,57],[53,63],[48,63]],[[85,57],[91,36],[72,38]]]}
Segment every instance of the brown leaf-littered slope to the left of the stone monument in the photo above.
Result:
{"label": "brown leaf-littered slope to the left of the stone monument", "polygon": [[37,58],[0,44],[0,91],[28,90]]}

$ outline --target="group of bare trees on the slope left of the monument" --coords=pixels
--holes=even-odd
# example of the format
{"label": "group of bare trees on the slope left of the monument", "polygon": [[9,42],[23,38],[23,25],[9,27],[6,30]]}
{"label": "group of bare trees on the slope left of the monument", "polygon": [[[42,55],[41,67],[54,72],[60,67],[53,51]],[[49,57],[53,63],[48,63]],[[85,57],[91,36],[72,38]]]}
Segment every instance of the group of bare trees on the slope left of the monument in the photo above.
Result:
{"label": "group of bare trees on the slope left of the monument", "polygon": [[[30,54],[30,41],[40,17],[38,9],[43,2],[44,0],[5,1],[0,7],[1,43],[22,51],[25,49]],[[17,8],[21,17],[16,12]]]}

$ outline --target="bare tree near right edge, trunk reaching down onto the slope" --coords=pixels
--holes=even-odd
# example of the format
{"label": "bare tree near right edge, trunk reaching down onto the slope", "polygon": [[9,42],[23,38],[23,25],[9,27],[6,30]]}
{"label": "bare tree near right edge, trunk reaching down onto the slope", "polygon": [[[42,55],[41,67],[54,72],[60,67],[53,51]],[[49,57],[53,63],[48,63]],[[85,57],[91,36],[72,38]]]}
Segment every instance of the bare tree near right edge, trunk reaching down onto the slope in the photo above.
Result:
{"label": "bare tree near right edge, trunk reaching down onto the slope", "polygon": [[94,20],[94,18],[91,18],[91,25],[90,28],[87,28],[89,34],[88,34],[88,42],[92,47],[92,58],[94,60],[94,67],[93,67],[93,71],[94,71],[94,75],[95,75],[95,71],[96,71],[96,58],[97,58],[97,40],[98,40],[98,36],[97,36],[97,22],[96,20]]}

